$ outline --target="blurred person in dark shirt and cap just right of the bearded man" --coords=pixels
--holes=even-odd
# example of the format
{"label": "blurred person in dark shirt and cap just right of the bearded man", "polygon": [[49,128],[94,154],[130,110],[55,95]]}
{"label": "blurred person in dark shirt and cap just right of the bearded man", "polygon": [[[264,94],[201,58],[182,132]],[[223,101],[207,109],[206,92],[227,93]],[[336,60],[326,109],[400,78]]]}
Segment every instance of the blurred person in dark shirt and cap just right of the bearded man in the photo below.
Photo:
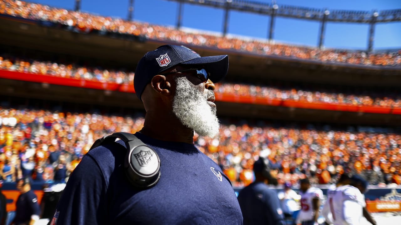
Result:
{"label": "blurred person in dark shirt and cap just right of the bearded man", "polygon": [[253,164],[255,181],[238,194],[244,225],[285,225],[277,192],[268,184],[275,183],[269,171],[269,161],[259,157]]}

